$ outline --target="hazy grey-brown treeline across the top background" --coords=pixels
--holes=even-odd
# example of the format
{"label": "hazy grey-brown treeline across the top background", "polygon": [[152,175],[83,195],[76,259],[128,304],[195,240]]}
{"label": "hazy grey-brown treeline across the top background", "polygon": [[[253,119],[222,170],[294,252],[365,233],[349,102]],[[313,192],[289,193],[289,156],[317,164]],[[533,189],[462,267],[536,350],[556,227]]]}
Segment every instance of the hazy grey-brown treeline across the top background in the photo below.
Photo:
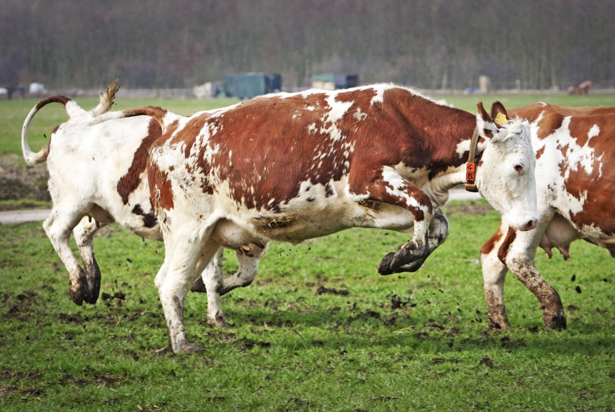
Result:
{"label": "hazy grey-brown treeline across the top background", "polygon": [[613,0],[2,0],[0,85],[359,73],[428,89],[615,87]]}

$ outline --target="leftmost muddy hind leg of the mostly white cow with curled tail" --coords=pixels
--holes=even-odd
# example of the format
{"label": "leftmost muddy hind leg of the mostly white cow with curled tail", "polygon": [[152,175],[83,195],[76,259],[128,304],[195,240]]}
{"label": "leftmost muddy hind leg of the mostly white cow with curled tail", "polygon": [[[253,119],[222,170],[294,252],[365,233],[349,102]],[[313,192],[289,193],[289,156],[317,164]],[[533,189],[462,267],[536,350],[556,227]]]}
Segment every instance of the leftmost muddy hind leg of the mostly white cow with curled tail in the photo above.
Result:
{"label": "leftmost muddy hind leg of the mostly white cow with curled tail", "polygon": [[90,288],[84,270],[79,266],[79,262],[73,255],[69,240],[71,231],[82,216],[83,214],[76,212],[75,208],[69,208],[65,212],[61,207],[54,205],[49,217],[42,224],[55,252],[60,256],[66,271],[68,271],[71,299],[79,306],[83,304],[84,300],[90,299]]}

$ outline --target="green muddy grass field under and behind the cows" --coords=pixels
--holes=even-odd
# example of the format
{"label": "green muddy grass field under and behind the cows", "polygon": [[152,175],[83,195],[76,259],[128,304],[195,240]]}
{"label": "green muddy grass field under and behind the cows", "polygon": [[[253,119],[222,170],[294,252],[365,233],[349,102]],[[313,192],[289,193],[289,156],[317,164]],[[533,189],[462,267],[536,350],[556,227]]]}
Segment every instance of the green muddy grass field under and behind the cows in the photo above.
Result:
{"label": "green muddy grass field under and behind the cows", "polygon": [[[446,97],[471,111],[477,100],[496,99],[615,106],[612,95]],[[0,101],[3,153],[20,154],[20,127],[35,103]],[[117,108],[145,104],[189,114],[206,102],[127,100]],[[39,113],[40,144],[65,119],[62,109],[54,113]],[[9,140],[16,144],[5,149]],[[484,201],[451,202],[445,213],[451,235],[415,274],[376,272],[407,240],[396,232],[352,229],[272,245],[255,282],[222,298],[232,327],[208,327],[206,297],[188,295],[188,336],[206,349],[195,355],[157,352],[167,346],[153,282],[164,245],[103,229],[95,239],[101,298],[78,307],[41,224],[0,225],[0,410],[614,410],[608,252],[576,242],[566,262],[538,254],[568,330],[546,328],[536,298],[509,276],[513,328],[490,331],[477,259],[499,215]],[[229,252],[224,265],[236,269]]]}

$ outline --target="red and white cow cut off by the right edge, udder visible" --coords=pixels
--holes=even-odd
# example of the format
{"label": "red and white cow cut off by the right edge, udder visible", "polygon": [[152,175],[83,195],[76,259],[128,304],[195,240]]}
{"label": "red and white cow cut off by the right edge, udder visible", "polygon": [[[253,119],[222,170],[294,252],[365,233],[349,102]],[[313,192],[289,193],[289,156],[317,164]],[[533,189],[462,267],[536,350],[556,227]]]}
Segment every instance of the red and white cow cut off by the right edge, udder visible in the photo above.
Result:
{"label": "red and white cow cut off by the right edge, udder visible", "polygon": [[529,119],[536,151],[539,223],[519,232],[502,217],[481,249],[487,313],[494,328],[509,328],[504,306],[508,270],[528,287],[551,328],[566,328],[560,296],[534,266],[536,249],[556,248],[569,258],[573,240],[606,248],[615,257],[615,108],[567,108],[536,103],[512,109]]}

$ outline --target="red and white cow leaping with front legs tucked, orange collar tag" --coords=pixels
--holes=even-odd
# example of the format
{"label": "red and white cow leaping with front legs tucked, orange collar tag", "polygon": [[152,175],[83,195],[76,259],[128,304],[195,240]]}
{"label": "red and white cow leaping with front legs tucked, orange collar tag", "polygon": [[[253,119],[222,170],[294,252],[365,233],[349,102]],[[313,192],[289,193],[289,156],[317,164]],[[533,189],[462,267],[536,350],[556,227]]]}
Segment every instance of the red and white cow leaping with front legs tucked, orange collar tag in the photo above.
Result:
{"label": "red and white cow leaping with front legs tucked, orange collar tag", "polygon": [[[475,116],[391,84],[278,93],[190,117],[153,107],[117,112],[162,125],[148,176],[165,242],[155,283],[173,351],[199,350],[186,338],[183,304],[218,244],[247,250],[351,227],[414,226],[378,271],[418,269],[448,235],[439,207],[466,182],[475,129],[483,137],[478,190],[513,227],[534,228],[529,125],[495,124],[496,112],[506,119],[499,103],[492,116],[479,104]],[[205,285],[216,290],[223,281]]]}

